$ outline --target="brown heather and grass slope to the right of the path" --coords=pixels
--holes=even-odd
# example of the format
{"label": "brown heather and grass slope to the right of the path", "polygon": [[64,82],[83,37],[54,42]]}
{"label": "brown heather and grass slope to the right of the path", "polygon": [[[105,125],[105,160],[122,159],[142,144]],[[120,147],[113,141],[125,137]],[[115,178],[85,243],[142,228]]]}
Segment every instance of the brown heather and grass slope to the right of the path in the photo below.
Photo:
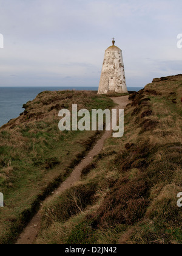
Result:
{"label": "brown heather and grass slope to the right of the path", "polygon": [[44,205],[36,243],[182,243],[181,96],[182,75],[130,95],[124,136]]}

